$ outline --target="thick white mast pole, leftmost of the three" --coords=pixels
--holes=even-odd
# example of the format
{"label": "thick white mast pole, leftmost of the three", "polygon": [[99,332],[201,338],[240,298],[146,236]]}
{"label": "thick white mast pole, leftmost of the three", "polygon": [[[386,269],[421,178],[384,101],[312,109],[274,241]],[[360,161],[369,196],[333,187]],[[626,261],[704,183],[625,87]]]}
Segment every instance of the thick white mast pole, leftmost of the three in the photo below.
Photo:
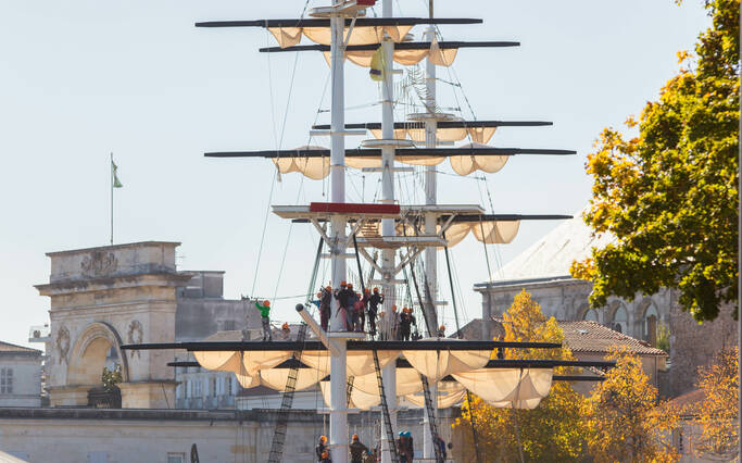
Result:
{"label": "thick white mast pole, leftmost of the three", "polygon": [[[330,199],[332,202],[345,202],[345,102],[343,65],[345,53],[343,50],[344,17],[330,16],[330,61],[332,72],[332,110],[330,123]],[[334,216],[331,221],[331,253],[332,288],[340,288],[340,281],[345,279],[345,217]],[[330,331],[343,328],[338,313],[338,302],[332,302],[330,316]],[[348,462],[348,402],[345,396],[347,339],[330,337],[329,341],[337,348],[337,354],[330,358],[330,455],[336,463]]]}

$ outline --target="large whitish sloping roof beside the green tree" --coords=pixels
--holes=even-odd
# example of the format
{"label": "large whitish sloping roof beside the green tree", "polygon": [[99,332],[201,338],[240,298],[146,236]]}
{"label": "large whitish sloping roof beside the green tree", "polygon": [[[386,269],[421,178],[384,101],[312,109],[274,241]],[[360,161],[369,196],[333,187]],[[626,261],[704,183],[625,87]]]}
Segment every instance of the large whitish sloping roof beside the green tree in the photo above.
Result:
{"label": "large whitish sloping roof beside the green tree", "polygon": [[565,221],[505,264],[492,275],[492,281],[568,276],[575,260],[589,258],[593,248],[600,249],[614,241],[608,234],[593,235],[583,221],[588,209],[584,207],[575,214],[575,218]]}

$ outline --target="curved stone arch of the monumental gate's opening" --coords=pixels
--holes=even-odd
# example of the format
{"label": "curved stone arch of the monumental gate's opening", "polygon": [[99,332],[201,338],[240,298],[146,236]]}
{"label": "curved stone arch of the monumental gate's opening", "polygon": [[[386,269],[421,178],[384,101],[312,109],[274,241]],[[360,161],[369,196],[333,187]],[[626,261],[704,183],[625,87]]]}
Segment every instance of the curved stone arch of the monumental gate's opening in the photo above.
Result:
{"label": "curved stone arch of the monumental gate's opening", "polygon": [[121,337],[116,329],[103,322],[95,322],[80,333],[70,353],[67,384],[76,387],[100,386],[105,358],[111,348],[121,361],[122,379],[129,380],[126,355],[121,350]]}

